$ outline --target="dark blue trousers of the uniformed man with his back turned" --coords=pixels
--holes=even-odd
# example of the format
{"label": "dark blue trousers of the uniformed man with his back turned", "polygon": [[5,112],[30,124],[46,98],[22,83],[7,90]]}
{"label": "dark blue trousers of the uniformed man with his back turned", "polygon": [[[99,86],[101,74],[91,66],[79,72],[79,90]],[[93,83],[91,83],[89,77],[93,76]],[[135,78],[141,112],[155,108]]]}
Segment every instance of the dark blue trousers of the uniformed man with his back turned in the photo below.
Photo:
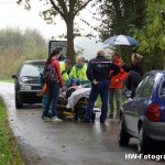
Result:
{"label": "dark blue trousers of the uniformed man with his back turned", "polygon": [[92,109],[95,107],[95,101],[97,100],[98,95],[101,98],[101,116],[100,122],[105,122],[107,119],[108,112],[108,89],[109,89],[109,80],[99,81],[98,85],[91,86],[91,91],[88,99],[87,112],[85,120],[91,121],[92,120]]}

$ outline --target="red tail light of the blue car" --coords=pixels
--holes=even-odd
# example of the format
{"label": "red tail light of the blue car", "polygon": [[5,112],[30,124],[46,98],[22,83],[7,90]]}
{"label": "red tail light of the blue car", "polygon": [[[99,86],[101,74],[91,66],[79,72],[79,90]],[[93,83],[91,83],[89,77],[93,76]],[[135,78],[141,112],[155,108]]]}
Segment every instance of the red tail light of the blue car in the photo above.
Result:
{"label": "red tail light of the blue car", "polygon": [[161,107],[157,103],[148,105],[147,119],[151,121],[161,121]]}

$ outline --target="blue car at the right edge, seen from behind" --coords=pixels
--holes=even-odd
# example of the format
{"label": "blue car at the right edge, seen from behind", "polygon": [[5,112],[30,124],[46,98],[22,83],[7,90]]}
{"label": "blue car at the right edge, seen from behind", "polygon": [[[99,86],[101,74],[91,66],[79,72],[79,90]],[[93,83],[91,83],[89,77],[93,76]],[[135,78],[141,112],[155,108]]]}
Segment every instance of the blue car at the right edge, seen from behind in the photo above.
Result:
{"label": "blue car at the right edge, seen from behind", "polygon": [[165,72],[146,74],[132,99],[123,103],[119,129],[119,144],[128,145],[136,138],[138,152],[146,153],[152,142],[165,143]]}

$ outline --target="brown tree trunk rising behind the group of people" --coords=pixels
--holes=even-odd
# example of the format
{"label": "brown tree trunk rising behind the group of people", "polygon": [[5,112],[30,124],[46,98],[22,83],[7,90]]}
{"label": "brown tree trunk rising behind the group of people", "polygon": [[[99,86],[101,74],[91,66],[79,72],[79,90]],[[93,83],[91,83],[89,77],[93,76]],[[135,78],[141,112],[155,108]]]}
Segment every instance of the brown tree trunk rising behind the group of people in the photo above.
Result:
{"label": "brown tree trunk rising behind the group of people", "polygon": [[74,19],[70,16],[66,20],[67,26],[67,57],[75,62],[75,48],[74,48]]}

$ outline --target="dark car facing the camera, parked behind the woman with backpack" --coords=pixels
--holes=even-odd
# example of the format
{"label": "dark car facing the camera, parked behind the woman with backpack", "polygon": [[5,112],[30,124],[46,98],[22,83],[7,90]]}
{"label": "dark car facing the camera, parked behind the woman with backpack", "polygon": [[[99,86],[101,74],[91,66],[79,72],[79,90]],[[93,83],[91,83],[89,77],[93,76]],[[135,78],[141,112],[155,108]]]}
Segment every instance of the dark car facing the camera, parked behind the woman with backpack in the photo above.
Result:
{"label": "dark car facing the camera, parked behind the woman with backpack", "polygon": [[23,103],[42,103],[42,87],[38,80],[40,72],[45,65],[44,59],[23,62],[15,78],[15,107],[23,108]]}

